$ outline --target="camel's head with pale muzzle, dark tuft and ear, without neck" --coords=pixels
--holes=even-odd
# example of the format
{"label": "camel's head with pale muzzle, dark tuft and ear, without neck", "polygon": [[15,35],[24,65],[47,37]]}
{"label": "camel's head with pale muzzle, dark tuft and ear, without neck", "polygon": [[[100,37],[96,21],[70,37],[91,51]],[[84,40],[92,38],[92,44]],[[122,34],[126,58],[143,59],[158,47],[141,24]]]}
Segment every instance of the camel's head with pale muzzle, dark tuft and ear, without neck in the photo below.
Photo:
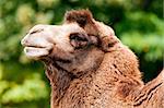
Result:
{"label": "camel's head with pale muzzle, dark tuft and ear, without neck", "polygon": [[95,21],[90,11],[80,10],[67,12],[62,25],[34,26],[21,43],[28,58],[79,74],[98,67],[119,40],[109,26]]}

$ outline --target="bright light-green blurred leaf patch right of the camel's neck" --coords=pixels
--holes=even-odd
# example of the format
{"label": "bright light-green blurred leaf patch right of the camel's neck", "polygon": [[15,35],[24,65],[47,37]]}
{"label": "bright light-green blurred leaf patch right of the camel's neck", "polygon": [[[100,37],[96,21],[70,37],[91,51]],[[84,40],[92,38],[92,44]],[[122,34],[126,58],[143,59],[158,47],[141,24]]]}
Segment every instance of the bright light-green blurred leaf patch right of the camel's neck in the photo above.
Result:
{"label": "bright light-green blurred leaf patch right of the camel's neck", "polygon": [[163,58],[164,36],[131,32],[122,34],[121,40],[124,44],[132,48],[136,52],[144,52],[144,58],[148,61],[162,60]]}

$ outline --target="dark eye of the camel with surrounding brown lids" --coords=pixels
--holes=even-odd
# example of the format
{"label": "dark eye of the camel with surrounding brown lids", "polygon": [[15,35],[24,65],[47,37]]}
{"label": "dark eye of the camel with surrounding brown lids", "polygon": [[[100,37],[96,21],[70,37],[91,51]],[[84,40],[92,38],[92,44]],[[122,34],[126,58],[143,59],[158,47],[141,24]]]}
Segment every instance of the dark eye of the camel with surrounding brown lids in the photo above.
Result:
{"label": "dark eye of the camel with surrounding brown lids", "polygon": [[80,33],[71,34],[70,43],[75,49],[84,48],[87,45],[86,35]]}

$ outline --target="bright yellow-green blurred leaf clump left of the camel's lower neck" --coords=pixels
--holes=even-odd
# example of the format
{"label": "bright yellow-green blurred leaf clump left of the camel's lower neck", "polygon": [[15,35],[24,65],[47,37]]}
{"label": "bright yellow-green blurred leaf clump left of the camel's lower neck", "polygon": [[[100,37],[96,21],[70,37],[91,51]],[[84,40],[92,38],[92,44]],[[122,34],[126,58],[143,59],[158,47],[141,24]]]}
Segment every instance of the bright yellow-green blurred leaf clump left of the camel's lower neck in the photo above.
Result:
{"label": "bright yellow-green blurred leaf clump left of the camel's lower neck", "polygon": [[45,83],[36,74],[31,80],[25,80],[22,85],[13,85],[2,96],[2,103],[32,101],[47,97],[48,93]]}

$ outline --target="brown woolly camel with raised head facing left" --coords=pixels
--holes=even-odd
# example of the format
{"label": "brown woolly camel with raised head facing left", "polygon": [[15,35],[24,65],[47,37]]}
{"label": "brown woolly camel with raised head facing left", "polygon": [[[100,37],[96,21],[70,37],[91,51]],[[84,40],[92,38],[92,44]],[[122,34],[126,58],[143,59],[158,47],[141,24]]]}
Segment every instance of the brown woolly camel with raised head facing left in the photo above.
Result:
{"label": "brown woolly camel with raised head facing left", "polygon": [[144,84],[136,55],[89,10],[35,25],[21,43],[45,63],[51,108],[164,108],[164,70]]}

